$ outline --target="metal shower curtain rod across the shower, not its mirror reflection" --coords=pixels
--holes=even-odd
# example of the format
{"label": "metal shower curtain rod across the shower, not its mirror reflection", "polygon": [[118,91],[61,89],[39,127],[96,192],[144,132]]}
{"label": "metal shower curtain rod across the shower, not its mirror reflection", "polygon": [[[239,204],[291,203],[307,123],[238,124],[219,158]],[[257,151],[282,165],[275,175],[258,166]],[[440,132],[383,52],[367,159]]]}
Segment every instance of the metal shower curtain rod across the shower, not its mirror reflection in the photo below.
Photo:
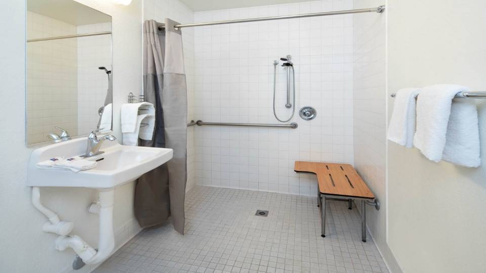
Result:
{"label": "metal shower curtain rod across the shower, not its mirror reflection", "polygon": [[[339,14],[350,14],[350,13],[363,13],[363,12],[377,12],[382,13],[385,10],[385,6],[379,6],[378,8],[371,9],[360,9],[360,10],[347,10],[347,11],[334,11],[334,12],[318,12],[318,13],[308,13],[308,14],[297,14],[297,15],[286,15],[286,16],[273,16],[273,17],[260,17],[260,18],[249,18],[249,19],[237,19],[237,20],[227,20],[227,21],[216,21],[207,23],[194,23],[194,24],[184,24],[175,25],[175,28],[181,27],[195,27],[195,26],[210,26],[210,25],[222,25],[222,24],[233,24],[233,23],[248,23],[257,21],[270,21],[270,20],[280,20],[280,19],[293,19],[293,18],[303,18],[303,17],[315,17],[315,16],[327,16],[327,15],[339,15]],[[164,24],[160,24],[158,29],[164,28]]]}

